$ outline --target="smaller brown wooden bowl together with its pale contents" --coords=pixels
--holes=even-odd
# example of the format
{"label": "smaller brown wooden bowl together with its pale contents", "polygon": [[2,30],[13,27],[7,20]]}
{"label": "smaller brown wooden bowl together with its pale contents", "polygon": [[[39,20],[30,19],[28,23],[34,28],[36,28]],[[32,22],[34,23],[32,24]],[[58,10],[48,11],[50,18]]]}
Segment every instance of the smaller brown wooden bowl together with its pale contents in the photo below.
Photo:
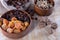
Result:
{"label": "smaller brown wooden bowl together with its pale contents", "polygon": [[34,9],[40,16],[49,16],[54,9],[54,0],[35,0]]}

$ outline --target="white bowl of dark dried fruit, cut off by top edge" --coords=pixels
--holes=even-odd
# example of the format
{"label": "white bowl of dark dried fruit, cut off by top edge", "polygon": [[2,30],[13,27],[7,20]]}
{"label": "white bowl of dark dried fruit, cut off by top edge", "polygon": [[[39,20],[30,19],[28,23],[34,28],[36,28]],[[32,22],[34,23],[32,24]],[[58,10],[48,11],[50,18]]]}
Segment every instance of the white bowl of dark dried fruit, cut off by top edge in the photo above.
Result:
{"label": "white bowl of dark dried fruit, cut off by top edge", "polygon": [[30,0],[0,0],[0,1],[7,10],[12,9],[24,10],[27,9],[30,5]]}

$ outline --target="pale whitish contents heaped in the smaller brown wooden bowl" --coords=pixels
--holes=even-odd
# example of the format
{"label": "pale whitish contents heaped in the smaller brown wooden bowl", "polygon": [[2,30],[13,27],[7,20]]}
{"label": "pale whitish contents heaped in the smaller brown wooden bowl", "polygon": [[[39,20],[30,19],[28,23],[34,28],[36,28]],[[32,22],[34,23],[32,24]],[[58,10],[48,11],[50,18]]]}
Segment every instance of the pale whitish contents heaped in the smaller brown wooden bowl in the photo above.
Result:
{"label": "pale whitish contents heaped in the smaller brown wooden bowl", "polygon": [[53,7],[48,0],[37,0],[36,5],[41,9],[50,9]]}

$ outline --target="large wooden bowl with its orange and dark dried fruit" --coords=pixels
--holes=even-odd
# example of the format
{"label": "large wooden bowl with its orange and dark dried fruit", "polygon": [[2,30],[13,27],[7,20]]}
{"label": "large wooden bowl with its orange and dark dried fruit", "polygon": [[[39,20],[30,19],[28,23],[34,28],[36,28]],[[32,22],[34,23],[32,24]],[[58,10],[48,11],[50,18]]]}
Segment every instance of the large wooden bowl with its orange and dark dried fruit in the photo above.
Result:
{"label": "large wooden bowl with its orange and dark dried fruit", "polygon": [[9,38],[21,38],[33,28],[30,15],[26,11],[10,10],[0,18],[2,33]]}

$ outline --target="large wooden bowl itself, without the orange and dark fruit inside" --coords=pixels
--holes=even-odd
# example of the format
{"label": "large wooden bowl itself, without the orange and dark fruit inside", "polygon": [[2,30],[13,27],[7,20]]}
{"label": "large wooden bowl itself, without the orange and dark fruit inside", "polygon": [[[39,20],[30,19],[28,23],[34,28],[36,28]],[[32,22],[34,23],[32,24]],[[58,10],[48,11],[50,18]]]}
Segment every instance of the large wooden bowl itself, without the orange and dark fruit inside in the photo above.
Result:
{"label": "large wooden bowl itself, without the orange and dark fruit inside", "polygon": [[[11,10],[11,11],[13,11],[13,10]],[[19,10],[19,11],[21,11],[21,10]],[[10,11],[8,11],[8,12],[10,12]],[[8,12],[6,12],[6,13],[8,13]],[[6,32],[5,30],[3,30],[3,29],[1,28],[2,33],[3,33],[5,36],[7,36],[8,38],[13,38],[13,39],[22,38],[22,37],[24,37],[25,35],[27,35],[30,31],[32,31],[32,29],[34,28],[34,24],[33,24],[34,21],[32,22],[30,15],[29,15],[26,11],[22,11],[22,12],[24,12],[25,14],[27,14],[28,17],[30,18],[30,25],[26,28],[26,30],[24,30],[24,31],[22,31],[22,32],[20,32],[20,33],[17,33],[17,34],[8,33],[8,32]],[[6,13],[5,13],[5,14],[6,14]],[[5,14],[3,14],[3,15],[5,15]],[[3,16],[3,15],[2,15],[2,16]],[[0,20],[3,20],[2,16],[1,16]]]}

